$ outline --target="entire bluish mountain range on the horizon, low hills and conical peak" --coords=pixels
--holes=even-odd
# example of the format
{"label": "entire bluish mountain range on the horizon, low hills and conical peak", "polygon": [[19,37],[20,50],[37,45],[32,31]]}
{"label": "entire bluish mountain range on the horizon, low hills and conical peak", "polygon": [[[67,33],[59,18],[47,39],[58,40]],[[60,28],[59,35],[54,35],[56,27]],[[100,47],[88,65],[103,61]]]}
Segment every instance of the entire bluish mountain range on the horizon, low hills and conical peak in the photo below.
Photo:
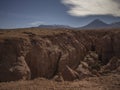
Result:
{"label": "entire bluish mountain range on the horizon, low hills and conical peak", "polygon": [[[52,28],[52,29],[67,28],[67,29],[71,29],[73,27],[70,27],[67,25],[39,25],[38,28]],[[95,19],[83,27],[78,27],[78,29],[102,29],[102,28],[120,28],[120,22],[107,24],[100,19]]]}

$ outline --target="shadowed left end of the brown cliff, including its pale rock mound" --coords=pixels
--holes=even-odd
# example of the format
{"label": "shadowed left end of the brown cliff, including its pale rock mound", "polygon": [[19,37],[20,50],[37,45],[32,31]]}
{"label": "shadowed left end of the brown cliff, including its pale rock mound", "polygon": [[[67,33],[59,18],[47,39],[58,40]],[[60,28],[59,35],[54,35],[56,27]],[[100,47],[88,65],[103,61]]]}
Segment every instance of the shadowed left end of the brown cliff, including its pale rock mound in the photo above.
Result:
{"label": "shadowed left end of the brown cliff, including its pale rock mound", "polygon": [[0,42],[0,81],[30,79],[30,69],[24,55],[28,51],[27,40],[21,38],[5,39]]}

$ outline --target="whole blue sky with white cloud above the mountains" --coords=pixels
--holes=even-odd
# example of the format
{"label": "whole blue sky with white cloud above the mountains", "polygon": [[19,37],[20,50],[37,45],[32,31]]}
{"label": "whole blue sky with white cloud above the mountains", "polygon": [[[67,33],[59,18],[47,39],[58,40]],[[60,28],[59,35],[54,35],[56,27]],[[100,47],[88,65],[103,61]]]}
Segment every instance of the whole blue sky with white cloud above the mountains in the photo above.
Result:
{"label": "whole blue sky with white cloud above the mountains", "polygon": [[120,22],[120,0],[0,0],[0,28]]}

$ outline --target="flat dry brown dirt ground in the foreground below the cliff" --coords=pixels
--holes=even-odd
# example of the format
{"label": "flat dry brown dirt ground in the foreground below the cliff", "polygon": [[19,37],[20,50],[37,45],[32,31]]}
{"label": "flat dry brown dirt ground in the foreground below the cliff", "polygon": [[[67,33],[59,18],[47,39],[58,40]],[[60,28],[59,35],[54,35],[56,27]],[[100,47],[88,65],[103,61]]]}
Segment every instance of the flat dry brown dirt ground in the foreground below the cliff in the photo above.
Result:
{"label": "flat dry brown dirt ground in the foreground below the cliff", "polygon": [[120,90],[120,74],[89,77],[73,82],[56,82],[44,78],[0,83],[0,90]]}

